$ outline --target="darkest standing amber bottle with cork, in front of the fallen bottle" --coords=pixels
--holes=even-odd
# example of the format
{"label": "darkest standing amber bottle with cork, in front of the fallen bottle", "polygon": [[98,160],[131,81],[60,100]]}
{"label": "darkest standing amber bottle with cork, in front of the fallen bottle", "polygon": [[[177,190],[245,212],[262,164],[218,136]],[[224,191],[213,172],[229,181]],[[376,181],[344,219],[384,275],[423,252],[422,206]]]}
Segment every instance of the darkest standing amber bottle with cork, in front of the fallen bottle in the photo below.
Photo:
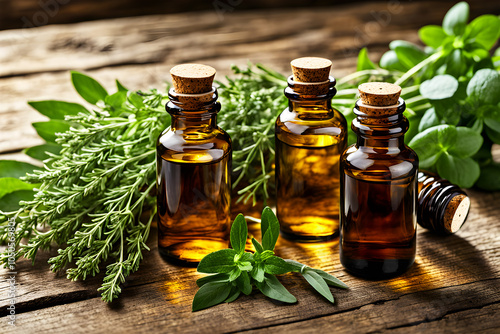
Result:
{"label": "darkest standing amber bottle with cork, in front of the fallen bottle", "polygon": [[404,144],[401,88],[359,86],[352,122],[357,143],[341,157],[340,260],[351,273],[384,278],[415,260],[418,157]]}

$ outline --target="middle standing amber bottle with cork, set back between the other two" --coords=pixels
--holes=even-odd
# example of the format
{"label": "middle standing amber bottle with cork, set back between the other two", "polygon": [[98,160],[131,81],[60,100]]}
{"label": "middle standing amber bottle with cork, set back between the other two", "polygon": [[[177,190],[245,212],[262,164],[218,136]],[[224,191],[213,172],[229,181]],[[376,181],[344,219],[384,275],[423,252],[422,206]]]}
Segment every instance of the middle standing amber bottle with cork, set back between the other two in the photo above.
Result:
{"label": "middle standing amber bottle with cork, set back between the other two", "polygon": [[276,120],[277,215],[285,238],[326,241],[338,234],[339,158],[347,146],[347,123],[331,107],[331,62],[307,57],[291,65],[289,107]]}

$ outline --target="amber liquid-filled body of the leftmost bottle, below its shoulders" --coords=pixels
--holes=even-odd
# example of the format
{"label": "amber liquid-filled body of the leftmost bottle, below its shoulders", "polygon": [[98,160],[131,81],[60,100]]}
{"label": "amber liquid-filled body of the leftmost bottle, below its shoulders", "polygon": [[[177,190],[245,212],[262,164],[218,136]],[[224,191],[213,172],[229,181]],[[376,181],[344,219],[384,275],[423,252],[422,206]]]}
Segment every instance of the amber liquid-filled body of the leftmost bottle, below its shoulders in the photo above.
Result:
{"label": "amber liquid-filled body of the leftmost bottle, below its shoulders", "polygon": [[220,132],[211,140],[185,145],[182,150],[159,144],[158,156],[160,253],[174,262],[195,265],[205,255],[228,247],[229,138]]}

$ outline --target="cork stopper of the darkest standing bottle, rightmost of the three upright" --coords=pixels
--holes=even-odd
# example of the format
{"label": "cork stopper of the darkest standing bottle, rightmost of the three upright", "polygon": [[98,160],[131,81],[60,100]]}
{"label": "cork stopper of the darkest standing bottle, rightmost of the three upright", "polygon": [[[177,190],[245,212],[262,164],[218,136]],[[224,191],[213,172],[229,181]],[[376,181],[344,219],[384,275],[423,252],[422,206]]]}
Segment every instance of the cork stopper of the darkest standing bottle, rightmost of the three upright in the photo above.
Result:
{"label": "cork stopper of the darkest standing bottle, rightmost of the three upright", "polygon": [[396,105],[401,95],[401,87],[388,82],[367,82],[358,90],[363,104],[377,107]]}

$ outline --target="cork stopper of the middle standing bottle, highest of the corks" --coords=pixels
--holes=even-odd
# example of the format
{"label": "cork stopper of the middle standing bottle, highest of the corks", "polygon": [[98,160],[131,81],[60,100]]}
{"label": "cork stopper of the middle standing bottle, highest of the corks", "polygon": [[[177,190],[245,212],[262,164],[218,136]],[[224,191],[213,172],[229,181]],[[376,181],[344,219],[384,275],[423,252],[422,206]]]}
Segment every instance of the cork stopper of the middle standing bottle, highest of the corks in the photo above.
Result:
{"label": "cork stopper of the middle standing bottle, highest of the corks", "polygon": [[324,82],[328,80],[332,62],[325,58],[302,57],[290,62],[293,80],[298,82]]}

